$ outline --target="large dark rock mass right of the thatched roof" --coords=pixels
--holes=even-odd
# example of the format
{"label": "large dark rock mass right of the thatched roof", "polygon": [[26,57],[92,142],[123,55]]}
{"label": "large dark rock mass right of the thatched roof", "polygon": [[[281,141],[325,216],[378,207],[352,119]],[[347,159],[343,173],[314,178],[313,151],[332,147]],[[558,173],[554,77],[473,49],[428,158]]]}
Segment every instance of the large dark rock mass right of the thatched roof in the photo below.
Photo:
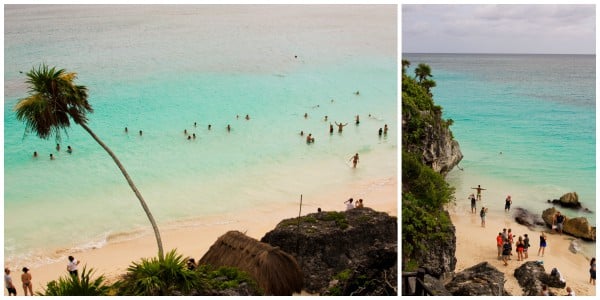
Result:
{"label": "large dark rock mass right of the thatched roof", "polygon": [[294,256],[304,290],[321,295],[396,295],[398,221],[370,208],[281,221],[261,242]]}

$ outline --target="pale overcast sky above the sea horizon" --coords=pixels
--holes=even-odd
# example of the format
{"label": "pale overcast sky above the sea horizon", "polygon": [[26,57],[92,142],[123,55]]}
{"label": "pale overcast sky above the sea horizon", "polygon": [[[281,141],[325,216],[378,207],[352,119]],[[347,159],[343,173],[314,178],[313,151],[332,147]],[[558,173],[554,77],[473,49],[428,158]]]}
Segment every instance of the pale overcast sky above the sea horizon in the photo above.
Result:
{"label": "pale overcast sky above the sea horizon", "polygon": [[593,5],[402,5],[404,53],[596,53]]}

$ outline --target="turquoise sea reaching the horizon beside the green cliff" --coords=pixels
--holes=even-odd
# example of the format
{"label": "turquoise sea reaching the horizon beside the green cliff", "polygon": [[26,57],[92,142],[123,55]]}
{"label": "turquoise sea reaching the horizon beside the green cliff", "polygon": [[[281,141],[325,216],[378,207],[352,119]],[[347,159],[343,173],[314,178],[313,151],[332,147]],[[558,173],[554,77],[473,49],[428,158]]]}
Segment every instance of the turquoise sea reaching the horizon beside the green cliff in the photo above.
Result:
{"label": "turquoise sea reaching the horizon beside the green cliff", "polygon": [[548,199],[577,192],[593,213],[563,209],[596,223],[595,55],[404,54],[407,72],[426,63],[432,92],[464,159],[448,174],[457,205],[478,184],[485,206],[536,213]]}

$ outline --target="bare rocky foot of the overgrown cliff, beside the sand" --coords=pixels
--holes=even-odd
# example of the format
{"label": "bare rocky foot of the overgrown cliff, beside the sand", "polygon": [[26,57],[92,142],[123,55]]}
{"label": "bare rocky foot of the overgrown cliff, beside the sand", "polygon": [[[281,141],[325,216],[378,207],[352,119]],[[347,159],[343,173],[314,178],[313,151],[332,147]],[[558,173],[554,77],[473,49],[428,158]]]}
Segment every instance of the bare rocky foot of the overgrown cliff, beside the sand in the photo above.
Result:
{"label": "bare rocky foot of the overgrown cliff, beside the sand", "polygon": [[[448,214],[448,212],[445,212]],[[450,218],[448,216],[448,218]],[[445,239],[432,238],[423,241],[426,250],[415,250],[418,264],[427,274],[437,278],[454,272],[456,267],[456,228],[450,226],[444,233]]]}

